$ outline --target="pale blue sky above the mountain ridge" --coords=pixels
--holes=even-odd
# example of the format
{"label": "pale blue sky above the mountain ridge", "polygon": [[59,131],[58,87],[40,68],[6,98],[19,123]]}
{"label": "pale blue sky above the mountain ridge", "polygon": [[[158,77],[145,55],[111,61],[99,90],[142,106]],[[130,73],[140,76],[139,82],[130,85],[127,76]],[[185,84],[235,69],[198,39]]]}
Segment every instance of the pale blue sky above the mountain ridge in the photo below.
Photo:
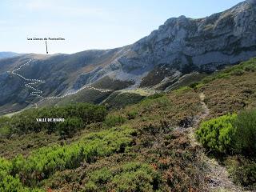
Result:
{"label": "pale blue sky above the mountain ridge", "polygon": [[1,0],[0,51],[50,54],[125,46],[150,34],[168,18],[202,18],[241,0]]}

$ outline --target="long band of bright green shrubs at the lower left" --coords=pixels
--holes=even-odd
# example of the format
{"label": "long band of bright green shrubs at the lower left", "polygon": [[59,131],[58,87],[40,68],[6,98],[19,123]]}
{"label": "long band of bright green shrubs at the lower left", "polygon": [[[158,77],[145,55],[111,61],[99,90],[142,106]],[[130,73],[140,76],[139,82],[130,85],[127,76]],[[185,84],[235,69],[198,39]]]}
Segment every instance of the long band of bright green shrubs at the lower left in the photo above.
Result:
{"label": "long band of bright green shrubs at the lower left", "polygon": [[68,146],[42,147],[27,158],[18,155],[10,162],[1,158],[0,173],[7,179],[3,180],[4,185],[14,187],[10,191],[20,191],[19,179],[27,186],[37,186],[38,182],[58,170],[73,169],[84,161],[93,162],[98,156],[123,153],[132,142],[133,132],[128,127],[119,127],[89,134]]}

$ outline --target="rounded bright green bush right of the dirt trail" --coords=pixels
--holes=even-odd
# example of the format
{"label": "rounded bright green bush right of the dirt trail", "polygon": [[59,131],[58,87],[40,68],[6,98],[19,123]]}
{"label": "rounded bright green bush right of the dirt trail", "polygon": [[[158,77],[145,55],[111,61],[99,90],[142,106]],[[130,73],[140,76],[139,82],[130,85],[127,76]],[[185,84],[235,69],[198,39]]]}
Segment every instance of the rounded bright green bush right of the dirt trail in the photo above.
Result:
{"label": "rounded bright green bush right of the dirt trail", "polygon": [[256,151],[256,110],[243,110],[202,122],[198,140],[216,153],[254,156]]}

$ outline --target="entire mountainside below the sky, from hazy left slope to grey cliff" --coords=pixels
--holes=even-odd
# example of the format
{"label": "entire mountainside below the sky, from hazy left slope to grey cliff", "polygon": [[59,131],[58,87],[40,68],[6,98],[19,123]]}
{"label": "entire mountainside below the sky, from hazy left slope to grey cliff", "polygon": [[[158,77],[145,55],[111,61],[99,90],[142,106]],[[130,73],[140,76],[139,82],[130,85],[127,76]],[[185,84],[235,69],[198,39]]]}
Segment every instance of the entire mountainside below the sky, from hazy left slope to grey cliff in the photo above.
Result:
{"label": "entire mountainside below the sky, from hazy left slope to grey cliff", "polygon": [[[31,58],[34,60],[19,73],[45,82],[34,88],[42,90],[42,97],[51,97],[94,84],[98,88],[112,87],[113,91],[138,87],[171,90],[184,80],[184,75],[186,83],[190,83],[190,77],[200,80],[204,77],[202,72],[212,73],[254,56],[256,1],[247,0],[207,18],[170,18],[146,38],[122,48],[2,59],[0,84],[6,86],[0,88],[0,104],[17,103],[9,93],[18,98],[18,105],[38,101],[30,95],[33,89],[24,86],[26,82],[22,87],[12,87],[12,81],[22,79],[15,80],[17,77],[6,74]],[[6,87],[10,90],[6,91]],[[21,90],[26,90],[26,94],[21,94]]]}

